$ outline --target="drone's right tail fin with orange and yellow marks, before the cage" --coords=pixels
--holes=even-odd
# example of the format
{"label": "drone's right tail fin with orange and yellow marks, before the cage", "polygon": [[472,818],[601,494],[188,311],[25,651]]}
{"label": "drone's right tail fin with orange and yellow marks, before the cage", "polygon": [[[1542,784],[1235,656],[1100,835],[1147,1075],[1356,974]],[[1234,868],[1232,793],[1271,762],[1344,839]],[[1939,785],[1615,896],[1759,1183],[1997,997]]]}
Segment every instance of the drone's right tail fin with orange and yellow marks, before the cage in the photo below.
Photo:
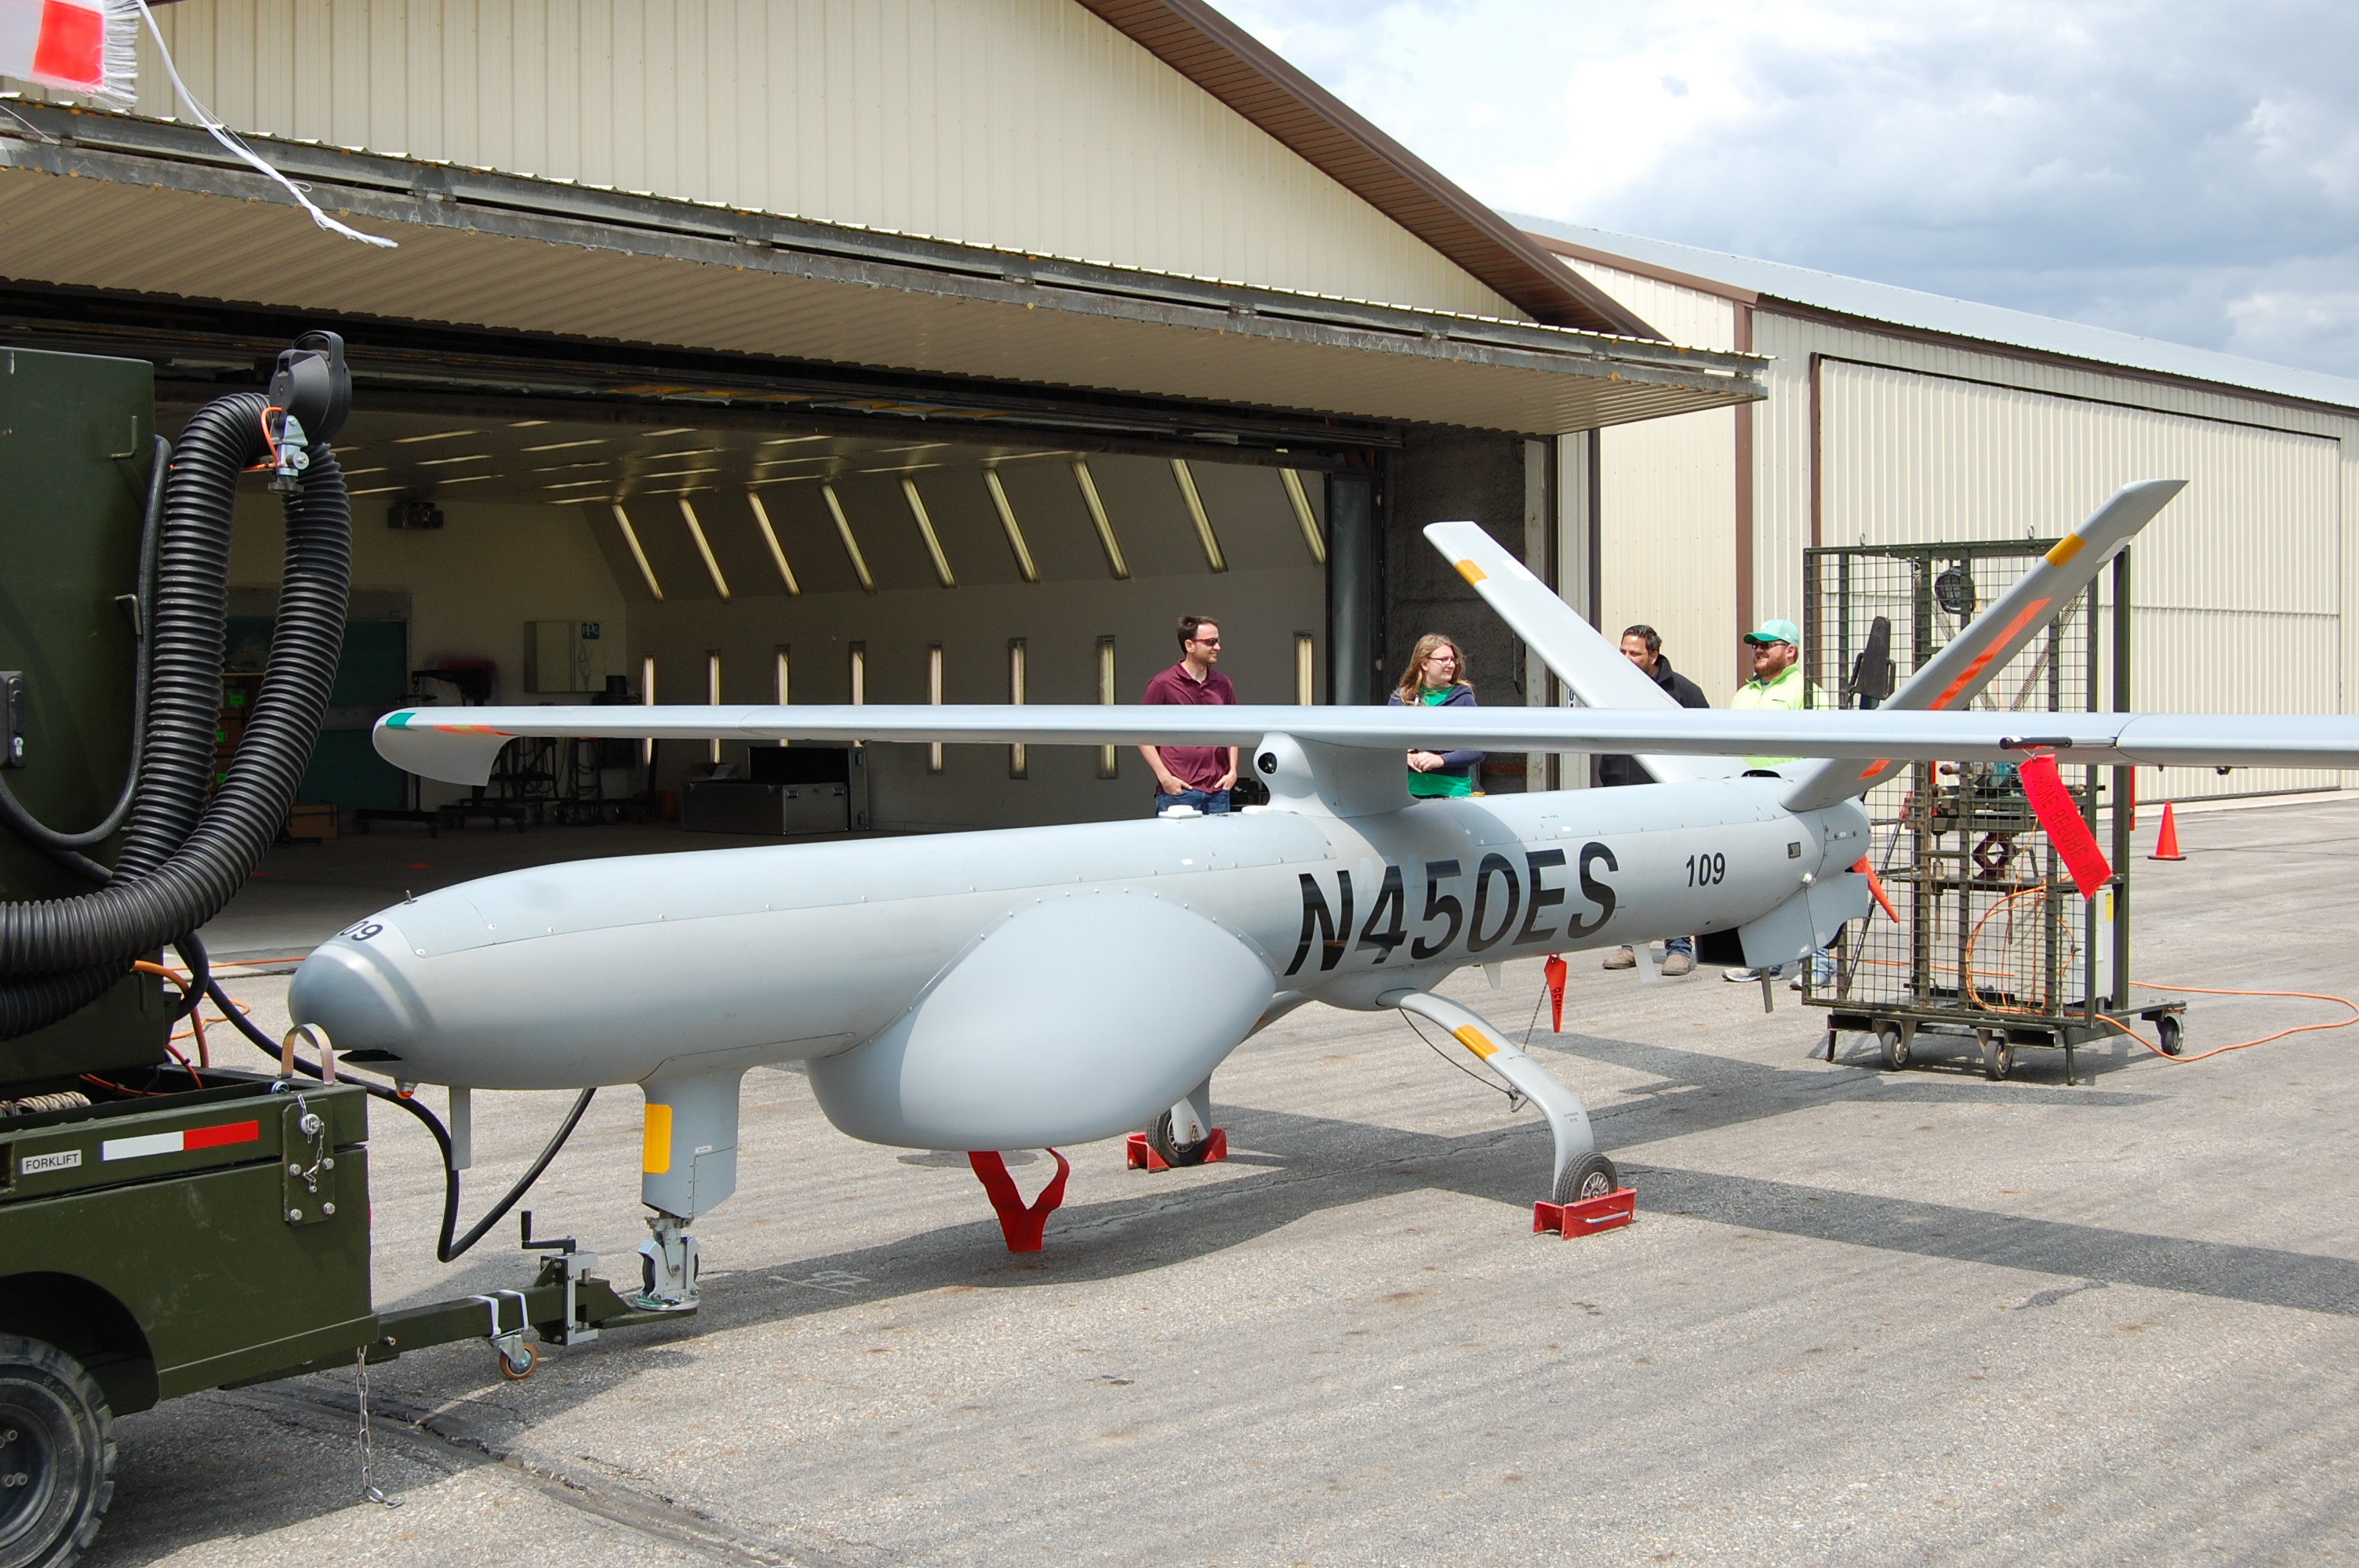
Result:
{"label": "drone's right tail fin with orange and yellow marks, before the cage", "polygon": [[[1925,660],[1899,691],[1880,703],[1880,710],[1944,712],[1972,703],[1991,684],[1991,677],[2005,670],[2008,660],[2022,653],[2024,644],[2038,637],[2090,585],[2114,552],[2151,523],[2184,488],[2184,479],[2140,479],[2114,490],[2088,521],[2057,540],[1991,608],[1974,615],[1946,648]],[[1866,795],[1901,766],[1901,762],[1871,762],[1866,769],[1857,762],[1798,764],[1795,785],[1786,792],[1786,809],[1816,811]]]}

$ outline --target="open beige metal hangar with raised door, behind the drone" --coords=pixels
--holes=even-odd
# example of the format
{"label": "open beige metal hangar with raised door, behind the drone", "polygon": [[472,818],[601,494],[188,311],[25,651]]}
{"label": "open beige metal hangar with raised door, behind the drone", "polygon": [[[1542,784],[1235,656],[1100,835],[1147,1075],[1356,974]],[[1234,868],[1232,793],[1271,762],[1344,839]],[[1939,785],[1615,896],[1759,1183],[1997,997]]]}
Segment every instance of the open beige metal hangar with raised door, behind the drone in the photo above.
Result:
{"label": "open beige metal hangar with raised door, behind the drone", "polygon": [[[158,17],[205,106],[399,248],[314,229],[142,38],[132,113],[0,116],[0,342],[153,361],[170,431],[347,335],[359,592],[309,785],[342,809],[399,802],[368,724],[436,667],[528,703],[1128,703],[1205,613],[1246,700],[1382,700],[1448,630],[1484,700],[1540,703],[1418,528],[1557,575],[1566,441],[1762,391],[1201,0]],[[257,495],[234,653],[278,547]],[[710,766],[670,750],[661,788]],[[1095,750],[870,766],[885,828],[1149,788]]]}

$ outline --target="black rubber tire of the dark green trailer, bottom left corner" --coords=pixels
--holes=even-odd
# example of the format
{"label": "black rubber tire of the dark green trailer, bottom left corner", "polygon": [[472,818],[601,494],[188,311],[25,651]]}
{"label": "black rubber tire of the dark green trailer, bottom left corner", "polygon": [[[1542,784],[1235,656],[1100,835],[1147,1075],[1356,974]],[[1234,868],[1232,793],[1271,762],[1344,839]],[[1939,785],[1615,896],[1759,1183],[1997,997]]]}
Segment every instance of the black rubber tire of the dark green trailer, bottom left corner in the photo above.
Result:
{"label": "black rubber tire of the dark green trailer, bottom left corner", "polygon": [[0,1335],[0,1568],[66,1568],[116,1495],[116,1417],[73,1356]]}

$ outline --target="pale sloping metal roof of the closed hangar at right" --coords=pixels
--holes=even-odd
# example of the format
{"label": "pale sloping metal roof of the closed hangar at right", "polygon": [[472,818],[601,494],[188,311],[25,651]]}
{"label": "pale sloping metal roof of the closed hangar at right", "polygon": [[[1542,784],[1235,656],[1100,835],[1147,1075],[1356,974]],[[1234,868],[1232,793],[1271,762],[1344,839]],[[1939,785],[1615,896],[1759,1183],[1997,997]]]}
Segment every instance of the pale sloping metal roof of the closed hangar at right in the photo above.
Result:
{"label": "pale sloping metal roof of the closed hangar at right", "polygon": [[1609,229],[1559,224],[1545,217],[1514,217],[1514,222],[1543,241],[1559,243],[1569,255],[1602,262],[1606,266],[1614,266],[1616,262],[1640,262],[1656,271],[1677,274],[1673,278],[1677,283],[1687,283],[1706,292],[1732,295],[1748,304],[1753,299],[1779,299],[1840,316],[1857,316],[1861,321],[1913,328],[1920,332],[1972,337],[2038,354],[2057,354],[2062,358],[2121,365],[2125,370],[2142,370],[2149,375],[2168,375],[2246,391],[2267,391],[2272,396],[2300,398],[2305,403],[2359,408],[2359,382],[2340,375],[2324,375],[2319,370],[2295,370],[2291,365],[2272,365],[2258,358],[2241,358],[2236,354],[2217,354],[2213,349],[2189,349],[2187,344],[2163,342],[2158,337],[2114,332],[2078,321],[2057,321],[2052,316],[2033,316],[2031,311],[2010,311],[1998,304],[1977,304],[1972,299],[1949,299],[1946,295],[1927,295],[1913,288],[1897,288],[1892,283],[1868,283],[1866,278],[1845,278],[1840,274],[1793,266],[1788,262],[1762,262],[1757,257],[1739,257],[1722,250],[1703,250],[1698,245],[1677,245],[1673,241],[1649,241],[1635,233],[1614,233]]}

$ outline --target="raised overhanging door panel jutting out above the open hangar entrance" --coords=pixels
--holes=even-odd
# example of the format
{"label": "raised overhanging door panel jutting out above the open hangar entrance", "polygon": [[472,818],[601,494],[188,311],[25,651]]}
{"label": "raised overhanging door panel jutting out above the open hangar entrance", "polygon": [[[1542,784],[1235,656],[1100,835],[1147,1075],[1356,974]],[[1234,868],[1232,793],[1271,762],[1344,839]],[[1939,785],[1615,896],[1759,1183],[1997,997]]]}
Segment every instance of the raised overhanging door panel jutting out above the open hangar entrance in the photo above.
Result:
{"label": "raised overhanging door panel jutting out above the open hangar entrance", "polygon": [[1762,396],[1757,361],[1444,311],[1217,285],[571,182],[274,141],[311,229],[201,130],[0,118],[0,278],[566,342],[1087,387],[1552,434]]}

